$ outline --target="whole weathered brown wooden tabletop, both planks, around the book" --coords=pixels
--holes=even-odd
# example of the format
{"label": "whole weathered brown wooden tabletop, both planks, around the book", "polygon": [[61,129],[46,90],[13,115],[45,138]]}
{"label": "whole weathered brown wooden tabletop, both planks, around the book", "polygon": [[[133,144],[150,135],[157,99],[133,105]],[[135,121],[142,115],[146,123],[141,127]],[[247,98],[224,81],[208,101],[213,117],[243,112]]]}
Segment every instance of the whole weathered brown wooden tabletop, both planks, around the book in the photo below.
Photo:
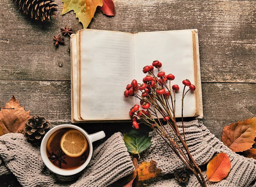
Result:
{"label": "whole weathered brown wooden tabletop, both planks, around the book", "polygon": [[[256,1],[114,0],[115,17],[96,11],[88,28],[125,32],[198,29],[203,94],[203,123],[217,138],[225,125],[256,115]],[[60,27],[82,25],[71,12],[50,22],[35,22],[12,0],[0,1],[0,105],[12,94],[32,115],[70,123],[70,46],[55,49]],[[100,99],[100,98],[99,98]],[[130,123],[82,124],[106,138],[127,132]],[[0,185],[17,186],[13,175]],[[3,182],[3,183],[2,183]]]}

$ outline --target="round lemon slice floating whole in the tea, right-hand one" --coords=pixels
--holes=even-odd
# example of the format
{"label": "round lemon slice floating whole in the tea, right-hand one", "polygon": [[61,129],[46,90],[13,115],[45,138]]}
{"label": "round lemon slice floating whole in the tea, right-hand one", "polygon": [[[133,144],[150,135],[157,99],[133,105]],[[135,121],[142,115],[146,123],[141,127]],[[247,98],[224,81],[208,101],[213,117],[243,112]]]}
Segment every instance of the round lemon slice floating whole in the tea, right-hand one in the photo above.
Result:
{"label": "round lemon slice floating whole in the tea, right-hand one", "polygon": [[71,129],[61,137],[60,147],[66,155],[79,157],[87,149],[88,142],[79,130]]}

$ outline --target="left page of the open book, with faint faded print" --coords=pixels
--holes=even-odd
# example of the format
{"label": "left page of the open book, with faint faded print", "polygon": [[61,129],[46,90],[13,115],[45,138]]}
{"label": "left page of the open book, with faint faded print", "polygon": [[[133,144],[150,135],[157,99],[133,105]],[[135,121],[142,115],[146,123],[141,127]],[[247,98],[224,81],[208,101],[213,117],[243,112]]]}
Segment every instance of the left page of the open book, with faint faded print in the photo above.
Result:
{"label": "left page of the open book, with faint faded print", "polygon": [[130,119],[134,99],[124,91],[134,79],[133,35],[84,29],[80,41],[82,119]]}

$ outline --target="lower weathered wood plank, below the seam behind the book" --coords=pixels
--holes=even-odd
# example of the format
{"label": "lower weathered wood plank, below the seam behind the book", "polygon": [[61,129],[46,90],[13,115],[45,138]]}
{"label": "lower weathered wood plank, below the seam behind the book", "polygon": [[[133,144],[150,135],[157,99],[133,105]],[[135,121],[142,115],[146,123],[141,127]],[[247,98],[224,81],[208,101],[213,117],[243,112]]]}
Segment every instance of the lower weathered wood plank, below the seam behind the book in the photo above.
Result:
{"label": "lower weathered wood plank, below the seam behind the book", "polygon": [[[8,102],[13,94],[21,105],[25,105],[26,110],[31,110],[31,114],[44,115],[57,124],[70,123],[69,81],[0,81],[0,90],[1,106]],[[221,138],[225,125],[256,115],[255,83],[203,83],[202,90],[203,122],[218,138]],[[85,128],[88,133],[104,130],[106,138],[118,131],[127,132],[131,129],[130,123],[79,126]]]}

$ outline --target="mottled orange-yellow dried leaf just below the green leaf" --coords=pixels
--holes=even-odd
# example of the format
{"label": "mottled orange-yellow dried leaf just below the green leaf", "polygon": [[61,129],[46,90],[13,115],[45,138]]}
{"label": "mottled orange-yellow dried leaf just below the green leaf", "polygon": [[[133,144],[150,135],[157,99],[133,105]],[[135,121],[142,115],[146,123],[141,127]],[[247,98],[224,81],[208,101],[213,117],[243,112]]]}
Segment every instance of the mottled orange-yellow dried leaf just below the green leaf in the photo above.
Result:
{"label": "mottled orange-yellow dried leaf just below the green leaf", "polygon": [[156,168],[156,161],[154,160],[140,163],[137,171],[139,175],[139,181],[146,181],[151,178],[155,178],[161,173],[161,169]]}

